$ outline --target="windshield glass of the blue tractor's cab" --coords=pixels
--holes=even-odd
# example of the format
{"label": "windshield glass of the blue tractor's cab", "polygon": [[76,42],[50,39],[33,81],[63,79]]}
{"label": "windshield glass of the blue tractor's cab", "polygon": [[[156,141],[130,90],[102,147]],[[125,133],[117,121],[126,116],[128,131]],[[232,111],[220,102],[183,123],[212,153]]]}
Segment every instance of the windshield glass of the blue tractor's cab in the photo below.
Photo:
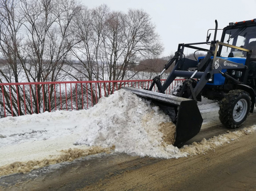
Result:
{"label": "windshield glass of the blue tractor's cab", "polygon": [[[243,47],[245,49],[250,49],[250,50],[254,49],[252,53],[252,57],[256,58],[256,26],[247,27],[246,25],[243,25],[241,26],[241,28],[226,30],[223,43]],[[246,52],[223,46],[220,56],[221,57],[246,57]]]}

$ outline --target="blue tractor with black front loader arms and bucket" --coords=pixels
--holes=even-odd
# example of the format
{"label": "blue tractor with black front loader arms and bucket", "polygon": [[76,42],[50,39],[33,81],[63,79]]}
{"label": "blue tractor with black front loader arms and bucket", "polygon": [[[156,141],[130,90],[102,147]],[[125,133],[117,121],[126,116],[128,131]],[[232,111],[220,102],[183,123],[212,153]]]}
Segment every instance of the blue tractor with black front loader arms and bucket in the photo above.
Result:
{"label": "blue tractor with black front loader arms and bucket", "polygon": [[[151,99],[176,124],[176,146],[197,135],[203,119],[197,101],[201,97],[220,102],[219,119],[229,128],[241,126],[249,112],[253,112],[256,88],[256,19],[231,22],[225,28],[221,40],[216,40],[217,20],[215,20],[214,39],[206,42],[179,44],[177,52],[164,67],[159,76],[153,79],[147,90],[126,88],[147,99]],[[208,44],[209,49],[198,47]],[[205,51],[198,60],[186,58],[184,48]],[[170,75],[161,84],[161,75],[175,64]],[[186,81],[179,87],[175,96],[165,91],[177,77]],[[157,85],[158,92],[153,92]]]}

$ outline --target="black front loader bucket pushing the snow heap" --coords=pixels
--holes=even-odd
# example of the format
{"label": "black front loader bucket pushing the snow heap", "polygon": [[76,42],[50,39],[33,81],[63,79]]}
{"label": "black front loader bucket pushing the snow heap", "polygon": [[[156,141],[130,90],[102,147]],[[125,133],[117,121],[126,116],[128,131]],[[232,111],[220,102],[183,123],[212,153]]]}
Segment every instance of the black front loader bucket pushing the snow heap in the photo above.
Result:
{"label": "black front loader bucket pushing the snow heap", "polygon": [[164,113],[170,116],[176,125],[174,146],[184,145],[185,142],[199,133],[203,118],[195,100],[133,87],[124,87],[123,89],[152,100]]}

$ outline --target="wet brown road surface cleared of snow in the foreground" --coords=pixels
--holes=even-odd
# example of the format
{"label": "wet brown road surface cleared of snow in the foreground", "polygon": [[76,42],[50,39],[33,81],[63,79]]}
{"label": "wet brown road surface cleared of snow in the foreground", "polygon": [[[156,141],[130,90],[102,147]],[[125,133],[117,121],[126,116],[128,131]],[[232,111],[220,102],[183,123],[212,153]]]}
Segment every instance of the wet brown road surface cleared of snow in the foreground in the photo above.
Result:
{"label": "wet brown road surface cleared of snow in the foreground", "polygon": [[[255,124],[256,112],[243,127]],[[227,131],[217,121],[192,141]],[[2,190],[256,190],[256,133],[207,154],[179,159],[100,154],[28,174],[2,177]],[[190,142],[192,142],[190,141]]]}

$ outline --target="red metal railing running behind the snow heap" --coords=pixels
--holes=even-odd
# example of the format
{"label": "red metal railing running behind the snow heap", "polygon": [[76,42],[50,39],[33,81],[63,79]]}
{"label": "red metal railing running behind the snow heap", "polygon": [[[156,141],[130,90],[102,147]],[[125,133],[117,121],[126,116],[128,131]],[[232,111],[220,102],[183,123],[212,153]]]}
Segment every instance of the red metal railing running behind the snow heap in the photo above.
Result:
{"label": "red metal railing running behind the snow heap", "polygon": [[[166,94],[184,80],[175,79]],[[143,89],[151,83],[152,80],[0,83],[0,117],[88,109],[121,87]]]}

